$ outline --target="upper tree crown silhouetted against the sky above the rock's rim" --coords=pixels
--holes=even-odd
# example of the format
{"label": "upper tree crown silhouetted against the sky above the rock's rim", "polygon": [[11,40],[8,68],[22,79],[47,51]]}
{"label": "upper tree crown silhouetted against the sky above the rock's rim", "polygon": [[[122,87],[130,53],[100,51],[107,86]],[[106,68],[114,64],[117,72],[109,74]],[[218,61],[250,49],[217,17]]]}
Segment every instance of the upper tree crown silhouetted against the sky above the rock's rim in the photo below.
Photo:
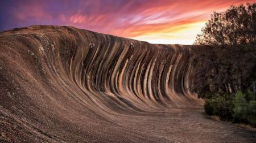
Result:
{"label": "upper tree crown silhouetted against the sky above the rock's rim", "polygon": [[195,45],[256,45],[256,3],[214,12],[201,31]]}

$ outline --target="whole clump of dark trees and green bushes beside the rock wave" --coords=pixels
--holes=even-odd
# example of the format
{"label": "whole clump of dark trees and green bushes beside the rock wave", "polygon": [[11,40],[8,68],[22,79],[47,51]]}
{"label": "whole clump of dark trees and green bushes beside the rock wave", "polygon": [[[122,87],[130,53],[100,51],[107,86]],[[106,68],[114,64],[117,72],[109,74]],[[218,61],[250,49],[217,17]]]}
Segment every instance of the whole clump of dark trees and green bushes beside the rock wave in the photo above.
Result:
{"label": "whole clump of dark trees and green bushes beside the rock wave", "polygon": [[191,91],[205,112],[256,127],[256,3],[214,12],[197,35]]}

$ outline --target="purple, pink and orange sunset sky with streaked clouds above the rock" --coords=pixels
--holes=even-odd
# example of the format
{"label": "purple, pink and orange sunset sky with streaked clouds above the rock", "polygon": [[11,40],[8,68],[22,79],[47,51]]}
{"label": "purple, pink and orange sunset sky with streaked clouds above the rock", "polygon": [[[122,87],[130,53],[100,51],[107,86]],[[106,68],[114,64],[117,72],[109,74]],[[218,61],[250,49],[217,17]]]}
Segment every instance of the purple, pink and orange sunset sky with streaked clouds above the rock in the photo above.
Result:
{"label": "purple, pink and orange sunset sky with streaked clouds above the rock", "polygon": [[0,31],[67,25],[147,41],[191,45],[213,11],[242,0],[1,0]]}

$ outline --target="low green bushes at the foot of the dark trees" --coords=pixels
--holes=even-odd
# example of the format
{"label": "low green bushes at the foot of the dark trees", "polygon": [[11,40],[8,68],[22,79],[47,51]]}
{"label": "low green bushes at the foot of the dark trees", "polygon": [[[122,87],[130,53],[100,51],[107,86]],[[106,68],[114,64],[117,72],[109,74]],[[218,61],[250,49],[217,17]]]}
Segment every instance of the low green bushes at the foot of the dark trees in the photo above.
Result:
{"label": "low green bushes at the foot of the dark trees", "polygon": [[216,94],[205,99],[204,110],[208,115],[217,115],[221,120],[250,123],[256,127],[256,100],[253,92],[238,91],[232,96]]}

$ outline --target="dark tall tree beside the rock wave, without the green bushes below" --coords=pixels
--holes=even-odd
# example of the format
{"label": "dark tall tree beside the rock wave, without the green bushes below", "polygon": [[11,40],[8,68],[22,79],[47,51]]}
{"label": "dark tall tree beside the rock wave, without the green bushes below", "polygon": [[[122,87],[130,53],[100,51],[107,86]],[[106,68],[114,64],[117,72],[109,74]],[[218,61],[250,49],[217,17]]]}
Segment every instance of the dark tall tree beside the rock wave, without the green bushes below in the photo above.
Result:
{"label": "dark tall tree beside the rock wave, without the green bushes below", "polygon": [[[214,12],[197,35],[192,92],[205,98],[252,89],[256,79],[256,3]],[[254,86],[252,86],[254,85]]]}

